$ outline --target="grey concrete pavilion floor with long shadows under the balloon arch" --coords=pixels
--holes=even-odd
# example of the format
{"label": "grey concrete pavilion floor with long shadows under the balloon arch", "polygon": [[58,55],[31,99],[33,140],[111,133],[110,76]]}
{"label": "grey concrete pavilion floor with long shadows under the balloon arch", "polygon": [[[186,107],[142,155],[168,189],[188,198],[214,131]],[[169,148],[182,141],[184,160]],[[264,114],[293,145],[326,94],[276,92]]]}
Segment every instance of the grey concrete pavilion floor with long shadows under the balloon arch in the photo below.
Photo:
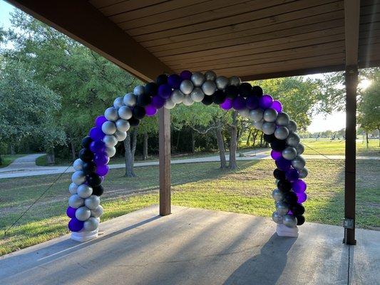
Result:
{"label": "grey concrete pavilion floor with long shadows under the balloon arch", "polygon": [[148,207],[101,224],[98,239],[69,236],[0,257],[0,284],[380,284],[380,232],[306,223],[274,234],[267,218]]}

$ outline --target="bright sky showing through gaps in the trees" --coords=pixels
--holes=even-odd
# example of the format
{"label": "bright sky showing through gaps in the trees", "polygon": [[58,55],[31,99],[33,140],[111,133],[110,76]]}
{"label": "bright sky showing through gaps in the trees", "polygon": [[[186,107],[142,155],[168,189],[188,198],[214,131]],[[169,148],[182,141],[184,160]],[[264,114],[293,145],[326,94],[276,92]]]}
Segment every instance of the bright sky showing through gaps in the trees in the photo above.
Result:
{"label": "bright sky showing through gaps in the trees", "polygon": [[[9,12],[13,10],[13,6],[0,0],[0,26],[7,28],[10,26],[9,22]],[[309,78],[322,78],[322,74],[314,74],[308,76]],[[366,86],[368,83],[364,83]],[[363,87],[364,87],[363,86]],[[312,123],[309,125],[307,130],[309,132],[322,132],[324,130],[341,130],[346,125],[346,113],[335,112],[331,115],[318,114],[314,115],[312,118]]]}

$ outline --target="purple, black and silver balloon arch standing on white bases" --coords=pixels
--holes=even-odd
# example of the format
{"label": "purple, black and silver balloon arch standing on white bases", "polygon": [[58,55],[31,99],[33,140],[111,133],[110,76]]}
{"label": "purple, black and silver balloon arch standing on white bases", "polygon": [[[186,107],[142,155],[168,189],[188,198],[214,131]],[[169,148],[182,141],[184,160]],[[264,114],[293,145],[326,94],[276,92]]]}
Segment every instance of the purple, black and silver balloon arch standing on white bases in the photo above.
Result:
{"label": "purple, black and silver balloon arch standing on white bases", "polygon": [[282,112],[278,100],[263,94],[260,86],[242,83],[237,76],[216,76],[213,71],[183,71],[180,75],[163,74],[155,83],[136,86],[133,93],[116,98],[113,106],[96,118],[73,164],[76,172],[71,177],[66,211],[71,218],[68,229],[72,239],[83,242],[97,237],[103,214],[101,183],[108,173],[110,157],[115,155],[115,145],[125,140],[128,129],[137,126],[145,116],[154,116],[160,108],[172,109],[180,103],[190,106],[194,102],[214,103],[223,110],[234,108],[262,130],[277,166],[273,172],[277,188],[272,192],[276,207],[272,219],[277,223],[277,234],[297,237],[297,225],[304,223],[302,203],[307,199],[307,185],[302,178],[307,176],[307,168],[301,156],[304,146],[295,133],[296,123]]}

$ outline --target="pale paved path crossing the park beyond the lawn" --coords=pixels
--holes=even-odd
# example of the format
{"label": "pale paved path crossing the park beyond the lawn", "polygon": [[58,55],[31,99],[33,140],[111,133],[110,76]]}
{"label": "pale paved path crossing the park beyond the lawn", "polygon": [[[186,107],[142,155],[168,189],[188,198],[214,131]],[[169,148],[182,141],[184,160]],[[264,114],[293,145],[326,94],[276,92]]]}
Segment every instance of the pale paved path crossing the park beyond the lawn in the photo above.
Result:
{"label": "pale paved path crossing the park beyond the lawn", "polygon": [[[36,175],[52,175],[58,173],[71,173],[74,172],[74,168],[71,166],[38,166],[35,161],[38,156],[43,154],[36,155],[26,155],[25,157],[20,157],[9,165],[0,169],[0,179],[1,178],[12,178],[12,177],[26,177],[26,176],[36,176]],[[244,152],[243,157],[239,157],[237,153],[237,160],[267,160],[271,159],[269,155],[269,149],[262,148],[258,150],[251,150],[249,152]],[[303,155],[305,159],[316,159],[316,160],[344,160],[344,155]],[[226,159],[229,160],[228,155]],[[358,156],[357,160],[380,160],[380,157],[364,157]],[[218,162],[220,161],[219,155],[213,155],[208,157],[194,157],[194,158],[185,158],[179,160],[172,160],[171,164],[178,163],[196,163],[196,162]],[[158,161],[148,161],[148,162],[136,162],[135,167],[143,166],[152,166],[158,165]],[[123,168],[125,165],[123,163],[110,165],[111,169],[114,168]]]}

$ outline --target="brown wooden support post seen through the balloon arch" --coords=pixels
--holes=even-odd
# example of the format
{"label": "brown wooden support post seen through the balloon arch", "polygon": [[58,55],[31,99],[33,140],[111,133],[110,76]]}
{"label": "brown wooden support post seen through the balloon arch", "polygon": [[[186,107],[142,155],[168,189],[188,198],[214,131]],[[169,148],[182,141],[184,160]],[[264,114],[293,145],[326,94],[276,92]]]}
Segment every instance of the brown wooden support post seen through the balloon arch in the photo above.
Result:
{"label": "brown wooden support post seen through the balloon arch", "polygon": [[159,111],[160,216],[171,213],[170,204],[170,110]]}

